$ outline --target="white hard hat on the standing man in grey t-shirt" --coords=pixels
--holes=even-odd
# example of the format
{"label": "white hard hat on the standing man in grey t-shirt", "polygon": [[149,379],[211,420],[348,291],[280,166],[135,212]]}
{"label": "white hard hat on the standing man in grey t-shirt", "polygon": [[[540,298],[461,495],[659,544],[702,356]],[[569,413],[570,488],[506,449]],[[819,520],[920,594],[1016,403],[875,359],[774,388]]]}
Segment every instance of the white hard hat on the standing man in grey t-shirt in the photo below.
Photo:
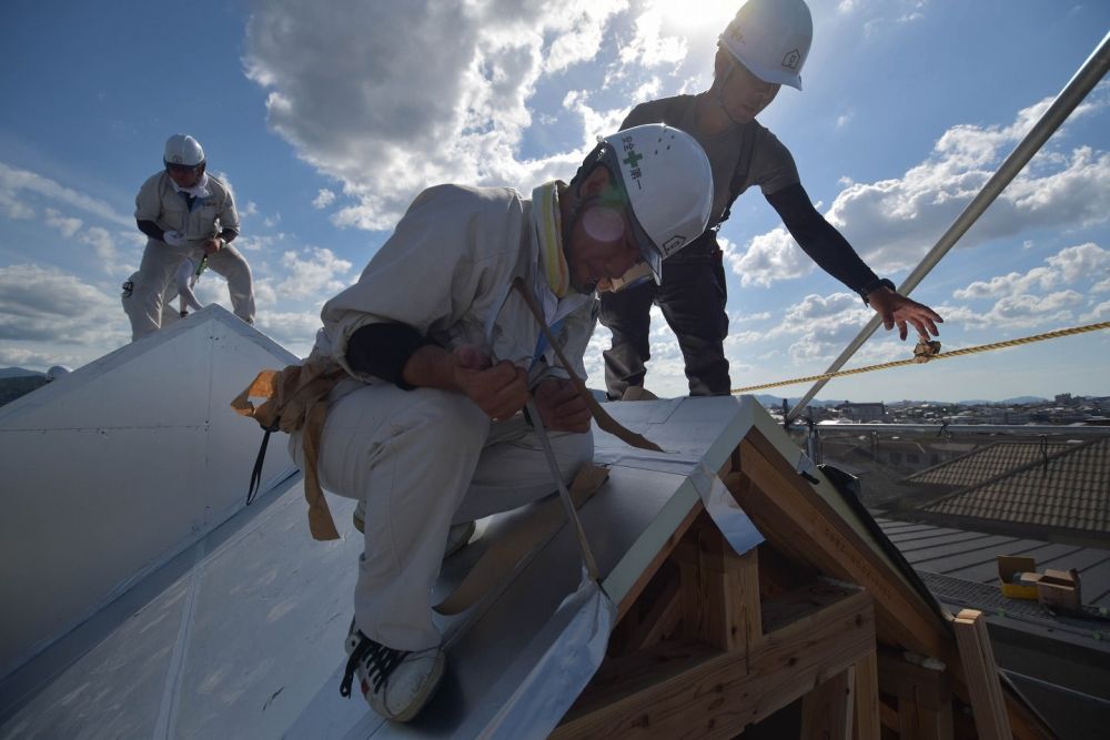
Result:
{"label": "white hard hat on the standing man in grey t-shirt", "polygon": [[804,0],[748,0],[720,34],[720,45],[757,78],[798,90],[813,41]]}

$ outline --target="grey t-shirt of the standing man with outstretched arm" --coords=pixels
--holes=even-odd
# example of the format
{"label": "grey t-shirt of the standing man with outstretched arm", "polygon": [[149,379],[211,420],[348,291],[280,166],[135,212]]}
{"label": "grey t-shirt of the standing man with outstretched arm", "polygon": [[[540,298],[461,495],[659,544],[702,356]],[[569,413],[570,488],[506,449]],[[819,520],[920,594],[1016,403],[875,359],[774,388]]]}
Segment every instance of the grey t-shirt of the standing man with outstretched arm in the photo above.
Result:
{"label": "grey t-shirt of the standing man with outstretched arm", "polygon": [[798,168],[783,142],[758,121],[733,124],[712,136],[697,133],[695,95],[676,95],[640,103],[632,110],[620,129],[645,123],[666,123],[693,135],[709,158],[713,169],[713,212],[709,227],[720,223],[733,204],[733,182],[737,175],[736,195],[751,185],[759,185],[764,195],[800,182]]}

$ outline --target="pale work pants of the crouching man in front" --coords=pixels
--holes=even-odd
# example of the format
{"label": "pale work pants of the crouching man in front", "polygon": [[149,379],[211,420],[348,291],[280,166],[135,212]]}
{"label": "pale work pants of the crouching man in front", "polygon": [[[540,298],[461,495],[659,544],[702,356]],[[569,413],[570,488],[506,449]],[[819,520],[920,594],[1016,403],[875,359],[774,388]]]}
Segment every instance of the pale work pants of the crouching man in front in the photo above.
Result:
{"label": "pale work pants of the crouching man in front", "polygon": [[[593,458],[593,434],[548,436],[569,483]],[[300,434],[290,452],[303,464]],[[366,501],[355,621],[371,639],[401,650],[440,643],[431,598],[448,527],[557,489],[523,415],[491,422],[461,394],[386,383],[360,385],[332,403],[319,470],[326,490]]]}

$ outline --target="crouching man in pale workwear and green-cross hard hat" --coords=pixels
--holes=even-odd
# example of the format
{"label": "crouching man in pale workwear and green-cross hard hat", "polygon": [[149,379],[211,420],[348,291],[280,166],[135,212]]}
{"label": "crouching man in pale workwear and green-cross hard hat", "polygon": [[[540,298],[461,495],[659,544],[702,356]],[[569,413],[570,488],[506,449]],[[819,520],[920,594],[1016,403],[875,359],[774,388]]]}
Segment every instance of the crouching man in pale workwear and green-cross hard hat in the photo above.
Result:
{"label": "crouching man in pale workwear and green-cross hard hat", "polygon": [[[584,377],[596,292],[659,278],[705,231],[709,163],[688,134],[652,124],[602,140],[571,184],[532,200],[502,187],[421,193],[359,282],[323,308],[310,363],[337,363],[315,462],[323,488],[359,500],[365,535],[347,672],[383,717],[412,719],[444,671],[432,587],[474,520],[552,494],[522,409],[535,399],[569,483],[593,457],[587,404],[543,338],[541,306]],[[519,287],[513,288],[521,278]],[[302,432],[290,449],[304,465]]]}

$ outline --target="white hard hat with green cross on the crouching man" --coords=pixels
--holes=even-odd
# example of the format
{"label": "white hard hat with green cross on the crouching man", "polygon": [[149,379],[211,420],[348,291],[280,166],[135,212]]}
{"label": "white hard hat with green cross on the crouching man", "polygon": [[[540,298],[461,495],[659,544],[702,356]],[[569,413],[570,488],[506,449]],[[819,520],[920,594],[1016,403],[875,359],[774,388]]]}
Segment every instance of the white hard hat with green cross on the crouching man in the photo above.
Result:
{"label": "white hard hat with green cross on the crouching man", "polygon": [[695,139],[648,123],[603,139],[601,161],[628,196],[644,261],[658,283],[663,261],[705,233],[713,206],[713,171]]}

